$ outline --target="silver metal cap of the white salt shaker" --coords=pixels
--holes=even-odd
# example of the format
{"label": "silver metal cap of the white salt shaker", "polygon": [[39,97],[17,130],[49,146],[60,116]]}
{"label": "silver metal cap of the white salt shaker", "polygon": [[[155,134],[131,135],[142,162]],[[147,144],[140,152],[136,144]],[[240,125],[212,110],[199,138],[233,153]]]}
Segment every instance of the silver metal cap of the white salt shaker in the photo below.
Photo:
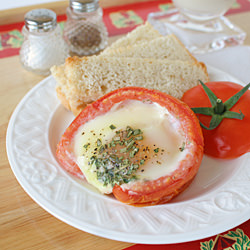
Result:
{"label": "silver metal cap of the white salt shaker", "polygon": [[56,13],[48,9],[35,9],[29,11],[25,17],[25,27],[29,31],[47,32],[57,25]]}

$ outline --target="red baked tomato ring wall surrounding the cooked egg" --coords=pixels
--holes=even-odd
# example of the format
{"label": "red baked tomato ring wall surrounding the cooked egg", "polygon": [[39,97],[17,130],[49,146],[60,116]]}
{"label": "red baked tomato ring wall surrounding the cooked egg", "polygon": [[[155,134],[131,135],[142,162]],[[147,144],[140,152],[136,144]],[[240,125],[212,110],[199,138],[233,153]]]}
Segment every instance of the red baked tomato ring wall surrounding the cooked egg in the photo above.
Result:
{"label": "red baked tomato ring wall surrounding the cooked egg", "polygon": [[146,206],[166,203],[188,187],[195,177],[203,157],[203,136],[199,121],[191,109],[180,100],[156,90],[140,87],[127,87],[110,92],[96,102],[88,105],[66,129],[57,147],[57,158],[61,165],[71,174],[83,178],[72,155],[71,142],[77,129],[90,119],[109,111],[115,103],[123,100],[140,100],[156,102],[182,122],[190,148],[188,156],[180,162],[171,175],[163,176],[154,181],[135,182],[129,188],[115,185],[114,196],[121,202]]}

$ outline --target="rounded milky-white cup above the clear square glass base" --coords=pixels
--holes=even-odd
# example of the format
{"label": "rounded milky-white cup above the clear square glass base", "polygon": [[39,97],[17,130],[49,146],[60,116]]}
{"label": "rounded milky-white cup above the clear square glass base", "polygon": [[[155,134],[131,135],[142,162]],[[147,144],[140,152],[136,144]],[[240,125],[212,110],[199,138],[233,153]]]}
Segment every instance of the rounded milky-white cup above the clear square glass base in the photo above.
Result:
{"label": "rounded milky-white cup above the clear square glass base", "polygon": [[224,15],[234,2],[235,0],[173,0],[179,11],[194,21],[218,18]]}

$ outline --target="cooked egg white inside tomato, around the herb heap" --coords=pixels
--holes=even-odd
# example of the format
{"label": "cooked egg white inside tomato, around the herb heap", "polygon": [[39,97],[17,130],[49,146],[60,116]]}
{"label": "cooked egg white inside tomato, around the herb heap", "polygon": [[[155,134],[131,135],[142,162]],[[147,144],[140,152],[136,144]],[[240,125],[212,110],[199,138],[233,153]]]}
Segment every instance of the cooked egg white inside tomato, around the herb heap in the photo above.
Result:
{"label": "cooked egg white inside tomato, around the herb heap", "polygon": [[[109,143],[116,136],[116,131],[124,130],[127,126],[141,129],[143,140],[140,150],[145,147],[150,149],[143,155],[146,157],[144,164],[140,164],[136,171],[137,180],[154,180],[171,174],[187,154],[183,148],[185,137],[179,122],[166,108],[157,103],[135,100],[118,103],[109,112],[83,124],[74,138],[78,166],[87,181],[102,193],[111,193],[113,187],[100,182],[96,169],[89,164],[96,151],[96,142],[99,139],[102,143]],[[139,156],[138,153],[135,158]]]}

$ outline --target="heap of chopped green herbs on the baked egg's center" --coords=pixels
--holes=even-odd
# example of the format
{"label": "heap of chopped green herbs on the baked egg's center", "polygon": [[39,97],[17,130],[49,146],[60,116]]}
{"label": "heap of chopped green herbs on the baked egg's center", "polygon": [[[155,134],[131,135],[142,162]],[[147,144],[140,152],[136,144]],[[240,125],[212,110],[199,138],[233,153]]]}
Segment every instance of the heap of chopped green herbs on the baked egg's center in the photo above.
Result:
{"label": "heap of chopped green herbs on the baked egg's center", "polygon": [[[112,130],[116,129],[113,124],[109,127]],[[115,135],[107,144],[103,144],[98,138],[94,145],[93,155],[88,162],[91,165],[90,168],[93,167],[98,181],[104,186],[114,186],[135,180],[136,171],[146,159],[145,155],[134,158],[140,148],[142,149],[138,143],[141,140],[143,140],[142,130],[133,129],[130,126],[124,130],[115,131]],[[87,149],[89,144],[84,146]]]}

